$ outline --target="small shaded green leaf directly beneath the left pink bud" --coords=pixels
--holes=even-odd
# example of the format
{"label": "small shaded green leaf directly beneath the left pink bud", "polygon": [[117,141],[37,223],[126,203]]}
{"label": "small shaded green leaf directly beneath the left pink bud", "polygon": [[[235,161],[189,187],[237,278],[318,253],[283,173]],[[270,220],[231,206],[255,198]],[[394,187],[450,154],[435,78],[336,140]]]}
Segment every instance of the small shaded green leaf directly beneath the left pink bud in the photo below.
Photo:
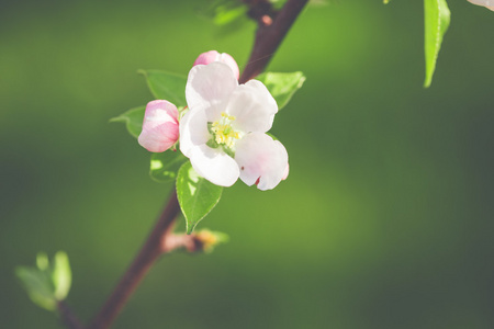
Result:
{"label": "small shaded green leaf directly beneath the left pink bud", "polygon": [[187,158],[178,151],[167,150],[160,154],[153,154],[149,175],[160,183],[173,181],[177,178],[180,166],[186,160]]}

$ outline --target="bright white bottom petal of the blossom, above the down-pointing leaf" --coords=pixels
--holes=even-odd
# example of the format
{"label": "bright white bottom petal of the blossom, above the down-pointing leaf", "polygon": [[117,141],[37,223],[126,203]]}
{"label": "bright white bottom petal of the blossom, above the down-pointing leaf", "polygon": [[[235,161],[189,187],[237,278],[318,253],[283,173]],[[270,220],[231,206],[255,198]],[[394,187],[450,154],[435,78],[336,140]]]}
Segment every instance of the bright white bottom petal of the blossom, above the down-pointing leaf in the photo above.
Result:
{"label": "bright white bottom petal of the blossom, above the down-pointing leaf", "polygon": [[232,186],[239,175],[237,162],[221,148],[193,147],[190,162],[201,177],[220,186]]}

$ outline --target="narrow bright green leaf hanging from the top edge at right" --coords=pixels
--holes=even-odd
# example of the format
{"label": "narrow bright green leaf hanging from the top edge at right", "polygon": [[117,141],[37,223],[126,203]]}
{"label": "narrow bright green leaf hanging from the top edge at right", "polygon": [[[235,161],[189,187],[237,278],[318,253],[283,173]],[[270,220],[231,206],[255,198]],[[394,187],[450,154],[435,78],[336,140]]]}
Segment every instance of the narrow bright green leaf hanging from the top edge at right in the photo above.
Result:
{"label": "narrow bright green leaf hanging from the top edge at right", "polygon": [[424,22],[426,59],[424,87],[428,88],[433,82],[437,56],[450,22],[450,12],[446,0],[424,0]]}

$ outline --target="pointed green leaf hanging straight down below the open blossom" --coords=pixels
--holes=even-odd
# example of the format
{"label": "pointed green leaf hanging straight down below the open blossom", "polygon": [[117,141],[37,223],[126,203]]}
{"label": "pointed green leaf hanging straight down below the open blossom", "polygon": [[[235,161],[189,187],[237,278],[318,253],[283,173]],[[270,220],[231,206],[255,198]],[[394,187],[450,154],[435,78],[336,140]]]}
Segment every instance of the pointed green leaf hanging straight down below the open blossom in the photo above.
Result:
{"label": "pointed green leaf hanging straight down below the open blossom", "polygon": [[177,197],[186,217],[188,235],[214,208],[222,196],[222,186],[200,177],[190,161],[183,163],[177,177]]}

